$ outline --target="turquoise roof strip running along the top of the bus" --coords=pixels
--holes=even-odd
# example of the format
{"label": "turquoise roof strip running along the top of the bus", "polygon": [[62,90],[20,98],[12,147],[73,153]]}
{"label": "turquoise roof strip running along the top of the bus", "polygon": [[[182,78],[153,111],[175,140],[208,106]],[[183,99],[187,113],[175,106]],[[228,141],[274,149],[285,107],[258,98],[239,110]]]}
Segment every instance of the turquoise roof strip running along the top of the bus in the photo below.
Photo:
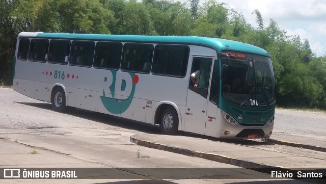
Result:
{"label": "turquoise roof strip running along the top of the bus", "polygon": [[222,49],[239,50],[252,52],[270,57],[268,52],[262,48],[238,41],[208,38],[199,36],[141,36],[141,35],[100,35],[100,34],[71,34],[71,33],[27,33],[22,32],[19,37],[77,39],[77,40],[102,40],[121,42],[143,42],[143,43],[170,43],[170,44],[191,44],[216,48],[219,52]]}

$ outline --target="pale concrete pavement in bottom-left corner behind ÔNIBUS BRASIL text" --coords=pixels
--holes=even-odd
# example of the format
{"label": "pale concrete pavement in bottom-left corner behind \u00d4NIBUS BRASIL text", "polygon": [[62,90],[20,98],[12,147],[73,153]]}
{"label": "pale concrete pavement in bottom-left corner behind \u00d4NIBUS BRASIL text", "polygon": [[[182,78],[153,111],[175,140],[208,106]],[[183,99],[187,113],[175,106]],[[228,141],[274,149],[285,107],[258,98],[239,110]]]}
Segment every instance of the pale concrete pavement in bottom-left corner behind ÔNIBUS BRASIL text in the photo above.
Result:
{"label": "pale concrete pavement in bottom-left corner behind \u00d4NIBUS BRASIL text", "polygon": [[[3,179],[2,168],[107,168],[96,162],[78,159],[67,154],[46,150],[44,148],[33,147],[0,138],[0,183],[121,183],[121,184],[169,184],[166,180],[151,179],[150,177],[140,177],[140,175],[112,168],[111,172],[102,175],[104,178],[116,178],[117,173],[121,178],[139,179]],[[36,169],[37,170],[37,169]],[[114,171],[116,170],[116,171]],[[22,175],[22,171],[20,171]],[[79,175],[80,177],[80,175]]]}

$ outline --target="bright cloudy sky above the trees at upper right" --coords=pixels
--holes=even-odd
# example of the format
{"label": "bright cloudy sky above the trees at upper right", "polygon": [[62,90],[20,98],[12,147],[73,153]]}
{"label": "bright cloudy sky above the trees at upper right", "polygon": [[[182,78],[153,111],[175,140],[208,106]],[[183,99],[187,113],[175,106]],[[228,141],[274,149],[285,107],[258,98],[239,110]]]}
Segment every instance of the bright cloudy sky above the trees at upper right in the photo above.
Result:
{"label": "bright cloudy sky above the trees at upper right", "polygon": [[[186,2],[187,0],[179,0]],[[200,0],[200,4],[206,0]],[[261,13],[264,24],[274,19],[280,30],[287,35],[299,35],[301,40],[308,39],[311,50],[319,56],[326,56],[326,1],[325,0],[217,0],[226,3],[246,17],[254,28],[258,25],[255,9]]]}

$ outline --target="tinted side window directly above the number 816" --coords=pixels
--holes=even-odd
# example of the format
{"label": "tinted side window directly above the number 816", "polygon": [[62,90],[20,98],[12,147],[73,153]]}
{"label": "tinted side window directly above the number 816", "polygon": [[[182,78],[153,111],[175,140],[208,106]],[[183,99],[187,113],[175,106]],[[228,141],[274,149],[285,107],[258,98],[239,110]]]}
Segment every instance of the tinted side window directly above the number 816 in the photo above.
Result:
{"label": "tinted side window directly above the number 816", "polygon": [[69,40],[51,40],[48,62],[67,64],[69,61],[69,51]]}

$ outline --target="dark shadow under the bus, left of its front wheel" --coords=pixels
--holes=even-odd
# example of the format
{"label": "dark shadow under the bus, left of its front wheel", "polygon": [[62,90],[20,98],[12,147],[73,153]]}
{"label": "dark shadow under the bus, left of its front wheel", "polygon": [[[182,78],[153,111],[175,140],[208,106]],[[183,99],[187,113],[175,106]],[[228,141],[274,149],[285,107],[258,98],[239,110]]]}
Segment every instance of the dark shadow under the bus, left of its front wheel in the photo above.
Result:
{"label": "dark shadow under the bus, left of its front wheel", "polygon": [[[47,102],[19,102],[14,101],[19,104],[23,104],[25,106],[31,106],[35,108],[40,108],[44,110],[52,111],[52,107],[50,103]],[[147,133],[147,134],[160,134],[160,130],[158,126],[134,121],[126,118],[116,117],[108,114],[78,109],[78,108],[71,108],[68,107],[65,112],[62,114],[68,114],[71,116],[87,119],[90,121],[95,121],[102,124],[117,126],[120,128],[130,129],[130,130],[137,130],[139,132]]]}

